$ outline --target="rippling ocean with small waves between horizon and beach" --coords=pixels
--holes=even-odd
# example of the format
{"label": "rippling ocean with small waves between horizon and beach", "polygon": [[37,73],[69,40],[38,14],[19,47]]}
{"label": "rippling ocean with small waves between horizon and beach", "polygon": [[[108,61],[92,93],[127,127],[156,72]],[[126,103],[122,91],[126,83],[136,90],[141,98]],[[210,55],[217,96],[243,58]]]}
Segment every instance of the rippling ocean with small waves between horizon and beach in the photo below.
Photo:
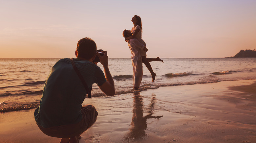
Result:
{"label": "rippling ocean with small waves between horizon and beach", "polygon": [[[45,80],[59,58],[0,59],[0,112],[31,109],[39,106]],[[256,58],[162,58],[150,62],[156,81],[143,65],[141,90],[220,81],[256,79]],[[132,90],[130,58],[109,58],[116,95]],[[98,66],[103,70],[101,64]],[[171,92],[171,91],[170,91]],[[104,94],[93,85],[92,98]],[[87,98],[85,99],[85,101]]]}

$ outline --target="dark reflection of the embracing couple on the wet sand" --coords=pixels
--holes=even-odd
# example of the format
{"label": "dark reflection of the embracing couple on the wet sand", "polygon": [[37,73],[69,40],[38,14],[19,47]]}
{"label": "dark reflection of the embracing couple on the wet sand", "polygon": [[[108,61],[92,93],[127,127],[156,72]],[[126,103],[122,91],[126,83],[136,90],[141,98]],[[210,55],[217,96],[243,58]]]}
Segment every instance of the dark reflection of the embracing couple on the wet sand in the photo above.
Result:
{"label": "dark reflection of the embracing couple on the wet sand", "polygon": [[[150,104],[148,107],[143,107],[144,99],[139,92],[135,92],[133,94],[133,117],[131,127],[129,129],[130,132],[123,138],[123,141],[125,142],[133,142],[146,136],[147,119],[159,119],[163,117],[152,116],[154,113],[155,103],[157,102],[155,94],[152,94],[152,98],[150,99]],[[143,109],[146,109],[146,111],[143,112]],[[146,113],[147,115],[143,117],[143,113]]]}

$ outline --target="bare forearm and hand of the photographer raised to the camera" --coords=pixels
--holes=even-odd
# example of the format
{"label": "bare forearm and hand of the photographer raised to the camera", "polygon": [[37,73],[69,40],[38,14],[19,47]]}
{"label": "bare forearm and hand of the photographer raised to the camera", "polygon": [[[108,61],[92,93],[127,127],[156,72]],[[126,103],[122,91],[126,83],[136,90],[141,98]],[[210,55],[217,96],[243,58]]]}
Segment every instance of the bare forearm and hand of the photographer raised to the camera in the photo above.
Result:
{"label": "bare forearm and hand of the photographer raised to the camera", "polygon": [[103,83],[103,85],[99,86],[100,90],[103,91],[107,96],[115,95],[115,84],[114,80],[111,76],[111,73],[108,68],[108,56],[107,52],[103,51],[104,55],[100,56],[99,53],[96,53],[99,57],[100,63],[103,65],[105,77],[107,81]]}

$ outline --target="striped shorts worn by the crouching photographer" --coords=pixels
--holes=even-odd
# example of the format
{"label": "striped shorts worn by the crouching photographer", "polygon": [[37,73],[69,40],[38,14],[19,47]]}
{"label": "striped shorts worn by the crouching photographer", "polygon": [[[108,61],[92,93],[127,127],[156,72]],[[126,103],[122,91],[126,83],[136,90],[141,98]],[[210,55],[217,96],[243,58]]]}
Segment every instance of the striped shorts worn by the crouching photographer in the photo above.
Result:
{"label": "striped shorts worn by the crouching photographer", "polygon": [[81,113],[83,118],[76,124],[61,125],[50,128],[44,128],[40,125],[37,126],[45,135],[52,137],[70,138],[76,135],[81,135],[95,123],[98,112],[93,105],[83,105],[81,108]]}

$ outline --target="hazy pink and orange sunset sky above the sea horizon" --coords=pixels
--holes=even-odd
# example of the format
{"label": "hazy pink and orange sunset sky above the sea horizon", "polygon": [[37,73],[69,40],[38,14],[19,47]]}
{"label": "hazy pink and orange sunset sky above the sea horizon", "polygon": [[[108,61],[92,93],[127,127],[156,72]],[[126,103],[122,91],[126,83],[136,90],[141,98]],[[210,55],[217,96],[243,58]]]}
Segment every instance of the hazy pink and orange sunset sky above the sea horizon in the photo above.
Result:
{"label": "hazy pink and orange sunset sky above the sea horizon", "polygon": [[110,58],[129,58],[122,31],[131,30],[134,15],[147,57],[256,49],[256,0],[1,0],[0,13],[0,58],[71,58],[84,37]]}

